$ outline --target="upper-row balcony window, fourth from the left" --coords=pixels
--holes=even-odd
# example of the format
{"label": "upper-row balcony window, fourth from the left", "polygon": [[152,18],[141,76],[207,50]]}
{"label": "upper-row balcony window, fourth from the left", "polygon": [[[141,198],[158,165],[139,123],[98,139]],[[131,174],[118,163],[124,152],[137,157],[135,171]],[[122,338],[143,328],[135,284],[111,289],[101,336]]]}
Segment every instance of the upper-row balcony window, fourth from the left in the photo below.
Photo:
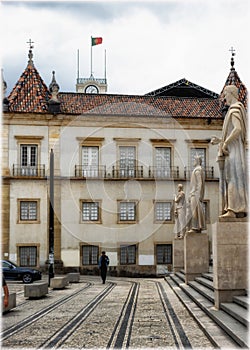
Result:
{"label": "upper-row balcony window, fourth from the left", "polygon": [[171,147],[155,147],[155,176],[171,176]]}

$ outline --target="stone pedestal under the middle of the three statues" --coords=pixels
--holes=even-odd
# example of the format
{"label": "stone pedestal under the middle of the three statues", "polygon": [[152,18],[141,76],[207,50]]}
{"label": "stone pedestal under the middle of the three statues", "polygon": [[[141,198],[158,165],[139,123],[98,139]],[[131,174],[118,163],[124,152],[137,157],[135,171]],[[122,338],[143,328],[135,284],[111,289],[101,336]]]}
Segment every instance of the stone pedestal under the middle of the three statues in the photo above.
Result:
{"label": "stone pedestal under the middle of the three statues", "polygon": [[209,271],[209,240],[206,233],[186,233],[184,236],[185,283]]}

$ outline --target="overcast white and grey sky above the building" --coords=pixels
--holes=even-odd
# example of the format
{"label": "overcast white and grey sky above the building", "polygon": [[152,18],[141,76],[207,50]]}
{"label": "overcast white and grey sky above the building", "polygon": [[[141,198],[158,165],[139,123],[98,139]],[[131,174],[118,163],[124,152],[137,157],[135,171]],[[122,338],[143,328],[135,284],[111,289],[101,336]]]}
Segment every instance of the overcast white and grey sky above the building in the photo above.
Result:
{"label": "overcast white and grey sky above the building", "polygon": [[108,93],[145,94],[186,78],[220,93],[235,68],[250,86],[249,0],[2,1],[1,56],[9,93],[33,61],[48,86],[55,70],[60,91],[75,91],[80,77],[104,77]]}

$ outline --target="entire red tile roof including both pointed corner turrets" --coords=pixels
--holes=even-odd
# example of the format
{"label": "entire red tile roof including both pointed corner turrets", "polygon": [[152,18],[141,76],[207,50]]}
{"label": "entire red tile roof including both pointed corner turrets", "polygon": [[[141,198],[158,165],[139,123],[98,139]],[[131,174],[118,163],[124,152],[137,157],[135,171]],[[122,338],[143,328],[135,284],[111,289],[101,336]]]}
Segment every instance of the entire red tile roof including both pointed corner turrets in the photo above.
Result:
{"label": "entire red tile roof including both pointed corner turrets", "polygon": [[[24,113],[48,113],[51,98],[48,87],[34,67],[32,52],[23,74],[10,93],[9,111]],[[234,68],[225,85],[240,87],[240,98],[245,107],[247,90]],[[62,114],[98,114],[124,116],[161,116],[184,118],[221,118],[219,98],[178,96],[134,96],[110,94],[83,94],[61,92],[58,95]]]}

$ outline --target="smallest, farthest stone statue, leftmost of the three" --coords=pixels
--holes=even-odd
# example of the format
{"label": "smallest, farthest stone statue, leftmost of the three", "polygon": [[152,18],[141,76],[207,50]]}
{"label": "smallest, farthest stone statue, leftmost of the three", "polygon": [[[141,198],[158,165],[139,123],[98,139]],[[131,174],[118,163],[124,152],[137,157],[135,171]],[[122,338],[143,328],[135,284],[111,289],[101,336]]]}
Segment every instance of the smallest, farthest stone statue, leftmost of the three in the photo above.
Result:
{"label": "smallest, farthest stone statue, leftmost of the three", "polygon": [[178,185],[178,193],[174,196],[175,202],[175,238],[182,238],[185,234],[186,228],[186,199],[183,191],[183,185]]}

